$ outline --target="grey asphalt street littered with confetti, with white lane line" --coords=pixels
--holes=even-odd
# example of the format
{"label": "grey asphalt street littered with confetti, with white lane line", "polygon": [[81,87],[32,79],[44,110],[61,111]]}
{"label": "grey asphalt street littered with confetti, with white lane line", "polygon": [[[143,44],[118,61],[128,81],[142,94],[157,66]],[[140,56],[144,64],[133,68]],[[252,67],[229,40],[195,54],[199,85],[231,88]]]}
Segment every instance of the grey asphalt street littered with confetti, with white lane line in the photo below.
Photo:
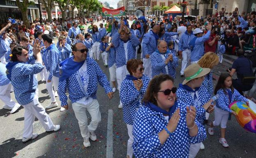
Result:
{"label": "grey asphalt street littered with confetti, with white lane line", "polygon": [[[99,26],[99,23],[96,24]],[[108,68],[103,66],[102,60],[98,64],[109,78]],[[177,87],[184,79],[179,76],[180,66],[181,62],[179,62],[175,79]],[[220,72],[226,71],[226,68],[230,66],[227,62],[217,65],[213,70],[214,78],[218,79]],[[46,90],[46,82],[41,82],[40,79],[38,75],[39,102],[46,107],[51,101]],[[214,85],[216,82],[217,80],[214,80]],[[15,100],[14,93],[11,96]],[[38,133],[39,136],[23,144],[21,139],[24,108],[20,108],[14,114],[9,114],[10,110],[2,109],[4,104],[0,101],[0,158],[126,158],[128,134],[126,124],[122,121],[122,110],[118,109],[118,91],[110,100],[104,93],[104,89],[98,85],[97,100],[100,105],[101,123],[96,131],[97,141],[91,141],[90,148],[83,147],[83,138],[71,106],[65,112],[60,112],[60,106],[46,110],[53,123],[61,125],[60,130],[46,133],[36,119],[34,133]],[[58,97],[57,102],[60,105]],[[210,120],[213,118],[214,114],[211,114]],[[241,128],[235,117],[232,117],[227,124],[226,140],[230,145],[229,148],[222,147],[219,143],[219,136],[220,128],[216,127],[213,136],[207,135],[207,139],[203,142],[205,150],[199,151],[197,158],[255,158],[256,134]]]}

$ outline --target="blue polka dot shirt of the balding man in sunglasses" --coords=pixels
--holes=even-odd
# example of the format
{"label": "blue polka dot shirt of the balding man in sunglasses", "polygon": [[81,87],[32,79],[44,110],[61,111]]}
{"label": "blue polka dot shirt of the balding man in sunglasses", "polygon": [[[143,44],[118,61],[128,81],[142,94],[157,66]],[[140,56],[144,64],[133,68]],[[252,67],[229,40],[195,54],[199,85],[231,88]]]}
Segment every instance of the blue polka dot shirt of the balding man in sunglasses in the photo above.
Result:
{"label": "blue polka dot shirt of the balding man in sunglasses", "polygon": [[[74,57],[72,57],[74,59]],[[99,68],[99,65],[95,60],[93,60],[90,57],[86,58],[87,62],[87,73],[89,75],[89,82],[88,82],[88,88],[87,92],[84,94],[83,90],[81,90],[78,81],[77,76],[78,72],[72,74],[69,78],[66,80],[59,82],[59,96],[60,96],[60,102],[61,106],[67,105],[67,96],[66,96],[66,90],[69,91],[69,98],[72,103],[75,103],[76,101],[79,101],[83,97],[91,97],[93,99],[96,99],[96,92],[98,88],[98,82],[99,85],[101,85],[105,89],[105,93],[112,92],[112,88],[110,87],[110,84],[108,82],[108,79],[106,75],[102,72],[102,70]]]}

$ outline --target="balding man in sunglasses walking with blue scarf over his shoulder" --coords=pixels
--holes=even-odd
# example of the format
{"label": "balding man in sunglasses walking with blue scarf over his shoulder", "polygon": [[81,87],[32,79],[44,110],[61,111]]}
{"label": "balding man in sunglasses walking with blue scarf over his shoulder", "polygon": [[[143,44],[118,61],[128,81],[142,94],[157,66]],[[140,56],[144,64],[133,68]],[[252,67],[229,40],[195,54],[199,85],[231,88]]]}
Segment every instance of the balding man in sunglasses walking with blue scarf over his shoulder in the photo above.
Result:
{"label": "balding man in sunglasses walking with blue scarf over his shoulder", "polygon": [[[92,58],[87,56],[88,48],[83,43],[77,43],[72,47],[73,57],[60,63],[59,95],[61,106],[68,110],[66,90],[72,108],[84,139],[83,145],[90,147],[89,138],[97,140],[95,130],[101,121],[99,103],[96,99],[97,84],[105,89],[108,98],[112,98],[113,92],[106,75]],[[86,110],[90,113],[92,121],[88,125]]]}

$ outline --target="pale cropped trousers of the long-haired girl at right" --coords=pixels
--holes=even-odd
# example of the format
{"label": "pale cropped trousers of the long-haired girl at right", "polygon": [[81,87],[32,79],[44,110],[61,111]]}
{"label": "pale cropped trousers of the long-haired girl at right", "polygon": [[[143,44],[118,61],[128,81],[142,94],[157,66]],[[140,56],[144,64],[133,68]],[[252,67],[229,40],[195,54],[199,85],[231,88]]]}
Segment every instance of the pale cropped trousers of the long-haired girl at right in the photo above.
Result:
{"label": "pale cropped trousers of the long-haired girl at right", "polygon": [[227,127],[229,112],[221,110],[220,108],[214,108],[214,121],[212,122],[213,126],[219,126],[221,128]]}

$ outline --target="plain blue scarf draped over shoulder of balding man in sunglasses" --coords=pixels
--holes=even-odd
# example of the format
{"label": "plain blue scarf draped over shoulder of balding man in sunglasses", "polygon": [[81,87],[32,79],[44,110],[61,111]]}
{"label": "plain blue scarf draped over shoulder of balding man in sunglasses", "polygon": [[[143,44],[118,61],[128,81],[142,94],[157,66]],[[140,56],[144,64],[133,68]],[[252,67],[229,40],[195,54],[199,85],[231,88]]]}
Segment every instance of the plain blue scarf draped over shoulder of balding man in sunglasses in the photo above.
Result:
{"label": "plain blue scarf draped over shoulder of balding man in sunglasses", "polygon": [[69,57],[60,63],[60,67],[62,68],[60,69],[59,81],[66,80],[83,66],[85,61],[75,62],[73,58],[74,57]]}

